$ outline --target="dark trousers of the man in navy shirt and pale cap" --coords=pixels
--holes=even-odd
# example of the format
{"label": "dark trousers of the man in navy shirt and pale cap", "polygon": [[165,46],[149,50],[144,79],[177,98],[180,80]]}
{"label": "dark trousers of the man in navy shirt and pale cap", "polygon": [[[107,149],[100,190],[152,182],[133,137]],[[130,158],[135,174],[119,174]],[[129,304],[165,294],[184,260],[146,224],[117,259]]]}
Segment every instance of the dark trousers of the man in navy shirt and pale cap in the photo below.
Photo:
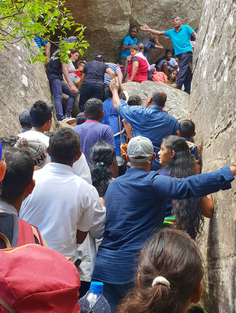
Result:
{"label": "dark trousers of the man in navy shirt and pale cap", "polygon": [[111,313],[116,313],[116,308],[128,291],[134,288],[133,282],[123,285],[103,283],[103,295],[111,307]]}

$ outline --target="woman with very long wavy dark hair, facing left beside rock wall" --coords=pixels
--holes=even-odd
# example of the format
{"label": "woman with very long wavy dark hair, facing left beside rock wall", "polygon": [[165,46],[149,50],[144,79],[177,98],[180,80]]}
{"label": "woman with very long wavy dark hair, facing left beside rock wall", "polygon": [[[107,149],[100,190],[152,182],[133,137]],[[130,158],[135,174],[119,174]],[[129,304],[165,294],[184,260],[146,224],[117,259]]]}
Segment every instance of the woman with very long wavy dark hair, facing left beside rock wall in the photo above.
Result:
{"label": "woman with very long wavy dark hair, facing left beside rock wall", "polygon": [[[189,153],[188,144],[179,136],[163,138],[158,152],[160,164],[163,165],[160,175],[175,178],[185,178],[196,175],[195,158]],[[203,198],[189,198],[184,200],[167,200],[166,216],[174,215],[176,228],[186,231],[191,238],[201,235],[204,218],[210,218],[214,206],[211,195]],[[169,218],[167,218],[168,220]],[[173,220],[170,218],[170,220]]]}

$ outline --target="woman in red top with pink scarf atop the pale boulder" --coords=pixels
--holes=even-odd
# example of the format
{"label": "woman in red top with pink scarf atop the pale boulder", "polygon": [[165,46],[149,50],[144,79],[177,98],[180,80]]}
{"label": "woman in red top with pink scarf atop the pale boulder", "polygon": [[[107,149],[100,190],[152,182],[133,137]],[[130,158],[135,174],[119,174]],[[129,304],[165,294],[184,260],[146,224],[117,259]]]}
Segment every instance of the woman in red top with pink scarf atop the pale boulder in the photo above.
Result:
{"label": "woman in red top with pink scarf atop the pale boulder", "polygon": [[148,80],[148,62],[145,56],[140,52],[140,47],[136,44],[130,47],[130,54],[132,59],[127,67],[129,75],[128,81],[136,81],[141,83]]}

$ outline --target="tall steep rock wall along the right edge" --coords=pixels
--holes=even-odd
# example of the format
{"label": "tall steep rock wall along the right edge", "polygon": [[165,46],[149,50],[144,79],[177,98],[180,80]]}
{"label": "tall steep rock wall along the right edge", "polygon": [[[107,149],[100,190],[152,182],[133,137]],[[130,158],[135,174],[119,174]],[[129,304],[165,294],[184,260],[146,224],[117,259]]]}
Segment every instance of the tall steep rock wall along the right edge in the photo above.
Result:
{"label": "tall steep rock wall along the right edge", "polygon": [[[234,0],[206,0],[194,49],[190,116],[196,140],[202,142],[203,172],[234,160],[235,112]],[[208,313],[236,311],[235,208],[236,184],[213,194],[214,216],[200,239],[206,265],[202,306]]]}

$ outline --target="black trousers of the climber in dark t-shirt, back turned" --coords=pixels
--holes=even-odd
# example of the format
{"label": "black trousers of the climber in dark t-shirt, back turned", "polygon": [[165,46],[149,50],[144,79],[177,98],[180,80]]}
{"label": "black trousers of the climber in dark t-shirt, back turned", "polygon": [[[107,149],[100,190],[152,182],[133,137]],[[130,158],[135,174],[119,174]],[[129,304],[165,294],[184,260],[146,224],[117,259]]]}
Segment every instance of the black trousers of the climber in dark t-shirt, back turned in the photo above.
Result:
{"label": "black trousers of the climber in dark t-shirt, back turned", "polygon": [[82,84],[80,90],[79,109],[85,111],[85,102],[90,98],[97,98],[102,101],[104,85],[102,84]]}

